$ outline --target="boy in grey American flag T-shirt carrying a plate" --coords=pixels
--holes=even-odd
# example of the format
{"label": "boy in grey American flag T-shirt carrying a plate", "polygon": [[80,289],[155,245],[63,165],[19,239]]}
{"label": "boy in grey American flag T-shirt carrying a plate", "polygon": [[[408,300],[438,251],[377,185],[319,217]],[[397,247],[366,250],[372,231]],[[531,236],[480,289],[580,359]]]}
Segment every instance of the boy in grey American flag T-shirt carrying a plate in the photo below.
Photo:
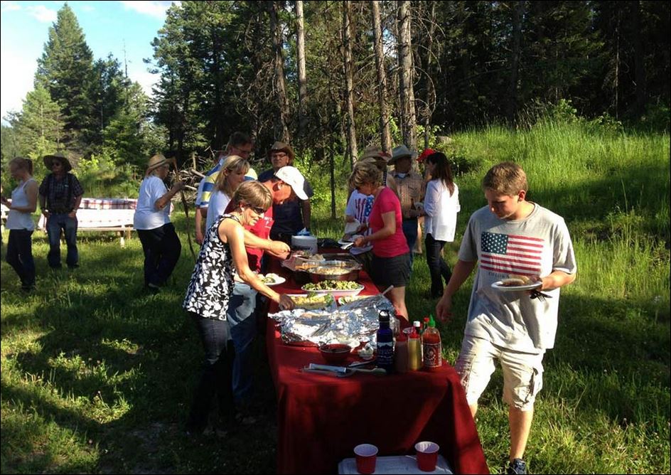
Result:
{"label": "boy in grey American flag T-shirt carrying a plate", "polygon": [[[543,355],[554,346],[559,288],[576,277],[576,259],[564,219],[526,201],[527,177],[512,162],[493,166],[483,178],[488,206],[468,221],[458,262],[436,305],[438,318],[451,318],[452,296],[478,265],[468,320],[456,370],[473,416],[498,359],[503,369],[503,400],[510,422],[507,473],[526,473],[522,459],[533,419],[535,396],[542,387]],[[540,282],[530,291],[503,292],[492,284],[510,275]]]}

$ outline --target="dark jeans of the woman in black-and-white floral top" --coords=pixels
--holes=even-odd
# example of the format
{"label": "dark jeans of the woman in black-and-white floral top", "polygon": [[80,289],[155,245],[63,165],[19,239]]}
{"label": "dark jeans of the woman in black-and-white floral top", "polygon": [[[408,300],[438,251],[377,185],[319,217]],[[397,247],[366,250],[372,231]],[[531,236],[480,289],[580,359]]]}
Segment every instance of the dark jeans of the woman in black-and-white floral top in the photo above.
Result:
{"label": "dark jeans of the woman in black-and-white floral top", "polygon": [[203,342],[205,361],[203,373],[195,387],[186,425],[189,431],[203,432],[208,425],[210,407],[215,396],[219,400],[220,424],[225,425],[234,419],[231,373],[235,350],[230,342],[228,321],[204,319],[193,312],[188,314],[198,329],[200,341]]}

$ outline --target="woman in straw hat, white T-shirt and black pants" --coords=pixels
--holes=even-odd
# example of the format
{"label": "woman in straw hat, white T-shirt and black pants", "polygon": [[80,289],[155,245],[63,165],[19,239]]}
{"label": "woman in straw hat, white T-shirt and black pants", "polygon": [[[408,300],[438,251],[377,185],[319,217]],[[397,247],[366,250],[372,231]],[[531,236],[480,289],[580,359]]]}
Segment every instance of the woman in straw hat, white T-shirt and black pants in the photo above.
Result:
{"label": "woman in straw hat, white T-shirt and black pants", "polygon": [[133,226],[144,251],[144,287],[158,292],[177,265],[182,245],[170,222],[170,200],[182,188],[178,181],[170,190],[163,183],[170,164],[161,154],[149,159],[144,180],[140,184]]}

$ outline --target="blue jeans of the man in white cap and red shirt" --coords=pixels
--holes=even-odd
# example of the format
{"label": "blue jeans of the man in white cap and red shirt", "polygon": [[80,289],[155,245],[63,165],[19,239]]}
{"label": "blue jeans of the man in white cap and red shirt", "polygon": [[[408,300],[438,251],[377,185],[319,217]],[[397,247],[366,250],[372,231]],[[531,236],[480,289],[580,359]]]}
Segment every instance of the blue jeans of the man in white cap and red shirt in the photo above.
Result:
{"label": "blue jeans of the man in white cap and red shirt", "polygon": [[228,302],[227,318],[235,348],[233,362],[233,395],[235,402],[244,405],[252,397],[254,368],[252,343],[257,335],[257,291],[242,282],[235,282]]}

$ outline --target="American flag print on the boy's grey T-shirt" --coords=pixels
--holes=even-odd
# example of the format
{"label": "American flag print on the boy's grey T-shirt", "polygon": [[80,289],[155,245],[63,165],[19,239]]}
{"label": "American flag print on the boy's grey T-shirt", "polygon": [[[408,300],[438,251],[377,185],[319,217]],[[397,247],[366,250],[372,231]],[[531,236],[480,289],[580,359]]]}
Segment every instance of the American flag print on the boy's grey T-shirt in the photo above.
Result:
{"label": "American flag print on the boy's grey T-shirt", "polygon": [[484,232],[481,236],[480,267],[505,274],[540,274],[543,240],[527,237]]}

